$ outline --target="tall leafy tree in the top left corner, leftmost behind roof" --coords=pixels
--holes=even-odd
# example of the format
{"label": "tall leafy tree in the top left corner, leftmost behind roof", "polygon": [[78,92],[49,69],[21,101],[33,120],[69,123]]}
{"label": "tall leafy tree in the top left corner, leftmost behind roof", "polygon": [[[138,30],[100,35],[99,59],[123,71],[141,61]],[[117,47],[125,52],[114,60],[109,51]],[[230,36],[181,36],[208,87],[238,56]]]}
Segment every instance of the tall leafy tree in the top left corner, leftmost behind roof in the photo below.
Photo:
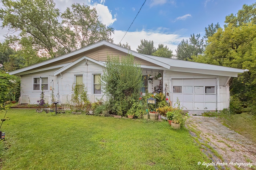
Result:
{"label": "tall leafy tree in the top left corner, leftmost behind roof", "polygon": [[46,51],[55,57],[60,12],[53,0],[2,0],[2,4],[5,7],[0,9],[2,27],[20,31],[20,37],[30,40],[36,51]]}

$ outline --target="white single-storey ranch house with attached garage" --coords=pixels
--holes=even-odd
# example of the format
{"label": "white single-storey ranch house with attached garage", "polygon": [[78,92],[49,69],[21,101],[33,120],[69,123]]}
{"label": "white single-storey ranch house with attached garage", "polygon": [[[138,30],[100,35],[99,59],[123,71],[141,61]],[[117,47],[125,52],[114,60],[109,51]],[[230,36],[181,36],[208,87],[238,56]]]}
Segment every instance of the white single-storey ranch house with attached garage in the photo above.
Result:
{"label": "white single-storey ranch house with attached garage", "polygon": [[[71,53],[10,72],[21,77],[20,104],[37,104],[42,84],[46,102],[51,101],[52,89],[60,104],[70,103],[74,83],[84,83],[90,102],[104,96],[98,84],[107,55],[134,55],[143,69],[142,93],[163,92],[172,106],[178,98],[191,113],[222,110],[229,107],[230,78],[245,72],[211,64],[195,63],[131,51],[108,41],[100,41]],[[162,80],[148,80],[148,75],[161,73]]]}

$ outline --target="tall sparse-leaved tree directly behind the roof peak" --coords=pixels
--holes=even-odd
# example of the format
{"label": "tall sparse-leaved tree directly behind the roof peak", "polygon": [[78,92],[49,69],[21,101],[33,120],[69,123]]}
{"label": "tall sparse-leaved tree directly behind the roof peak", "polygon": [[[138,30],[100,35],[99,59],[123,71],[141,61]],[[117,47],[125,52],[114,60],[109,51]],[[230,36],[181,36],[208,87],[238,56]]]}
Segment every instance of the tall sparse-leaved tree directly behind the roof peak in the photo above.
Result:
{"label": "tall sparse-leaved tree directly behind the roof peak", "polygon": [[114,28],[106,27],[98,20],[95,8],[81,4],[72,4],[72,10],[67,8],[61,15],[62,25],[74,32],[75,47],[80,49],[101,40],[113,42],[111,35]]}

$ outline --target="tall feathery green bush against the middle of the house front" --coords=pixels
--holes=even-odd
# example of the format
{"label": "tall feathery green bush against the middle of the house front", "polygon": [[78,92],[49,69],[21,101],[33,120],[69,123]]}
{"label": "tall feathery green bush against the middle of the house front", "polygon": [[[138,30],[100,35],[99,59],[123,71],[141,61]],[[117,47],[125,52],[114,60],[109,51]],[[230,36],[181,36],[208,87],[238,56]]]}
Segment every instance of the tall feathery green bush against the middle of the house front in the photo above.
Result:
{"label": "tall feathery green bush against the middle of the house front", "polygon": [[134,64],[134,56],[108,56],[102,75],[102,89],[108,96],[112,111],[118,115],[125,113],[138,100],[142,87],[140,64]]}

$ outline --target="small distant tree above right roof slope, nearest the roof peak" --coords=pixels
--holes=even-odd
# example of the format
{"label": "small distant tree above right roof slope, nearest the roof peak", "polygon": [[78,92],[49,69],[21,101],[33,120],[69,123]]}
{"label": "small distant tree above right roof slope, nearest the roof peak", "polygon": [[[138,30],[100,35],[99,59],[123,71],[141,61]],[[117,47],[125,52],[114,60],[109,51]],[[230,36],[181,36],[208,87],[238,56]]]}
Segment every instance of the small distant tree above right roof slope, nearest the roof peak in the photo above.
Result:
{"label": "small distant tree above right roof slope, nearest the roof peak", "polygon": [[140,40],[140,45],[138,45],[137,51],[141,54],[152,55],[156,51],[154,47],[154,42],[151,40]]}

